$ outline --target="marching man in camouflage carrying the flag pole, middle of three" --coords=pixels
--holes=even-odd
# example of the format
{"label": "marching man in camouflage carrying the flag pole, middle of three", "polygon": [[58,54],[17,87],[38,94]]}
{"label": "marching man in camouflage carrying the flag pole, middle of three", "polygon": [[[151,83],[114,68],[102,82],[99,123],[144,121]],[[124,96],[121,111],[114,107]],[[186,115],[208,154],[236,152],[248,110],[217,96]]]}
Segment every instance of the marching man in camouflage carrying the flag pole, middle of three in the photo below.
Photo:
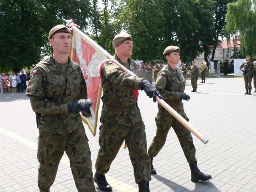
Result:
{"label": "marching man in camouflage carrying the flag pole, middle of three", "polygon": [[[115,59],[138,73],[136,63],[129,58],[132,55],[132,37],[130,34],[118,34],[113,39]],[[105,174],[122,143],[125,141],[132,166],[135,182],[140,192],[149,192],[150,157],[147,153],[145,125],[137,105],[138,90],[144,90],[153,101],[156,95],[162,96],[148,80],[127,74],[114,62],[105,62],[100,69],[102,75],[102,112],[100,117],[100,150],[98,152],[94,181],[102,191],[112,191]]]}

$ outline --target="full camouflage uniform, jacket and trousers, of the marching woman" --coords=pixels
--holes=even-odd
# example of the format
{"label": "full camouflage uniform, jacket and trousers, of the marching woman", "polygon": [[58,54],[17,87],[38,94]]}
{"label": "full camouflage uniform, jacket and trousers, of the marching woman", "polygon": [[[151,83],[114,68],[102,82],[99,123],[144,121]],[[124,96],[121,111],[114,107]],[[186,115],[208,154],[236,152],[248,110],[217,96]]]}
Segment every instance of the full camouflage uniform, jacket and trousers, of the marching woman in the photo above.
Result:
{"label": "full camouflage uniform, jacket and trousers, of the marching woman", "polygon": [[[156,88],[163,97],[163,100],[169,104],[184,119],[188,118],[184,112],[181,100],[181,92],[185,90],[185,78],[180,69],[173,70],[168,64],[159,72],[156,80]],[[168,132],[172,127],[178,137],[184,155],[188,163],[196,163],[196,149],[193,144],[191,132],[186,129],[174,116],[158,104],[158,114],[155,117],[156,136],[154,137],[148,154],[154,158],[165,144]]]}

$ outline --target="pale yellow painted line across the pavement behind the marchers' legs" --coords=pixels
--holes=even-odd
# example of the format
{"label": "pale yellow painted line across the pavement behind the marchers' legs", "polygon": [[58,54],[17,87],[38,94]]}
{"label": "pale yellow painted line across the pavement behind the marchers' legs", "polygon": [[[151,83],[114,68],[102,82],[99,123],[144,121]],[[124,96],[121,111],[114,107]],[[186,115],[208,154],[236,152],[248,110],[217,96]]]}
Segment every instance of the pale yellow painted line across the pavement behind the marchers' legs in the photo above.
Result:
{"label": "pale yellow painted line across the pavement behind the marchers' legs", "polygon": [[[13,138],[14,140],[21,142],[34,150],[37,150],[37,143],[34,143],[22,136],[19,136],[18,134],[15,134],[15,133],[10,132],[3,128],[0,128],[0,133]],[[60,163],[65,164],[66,166],[70,167],[69,159],[66,156],[62,156]],[[92,170],[92,171],[95,173],[95,170]],[[108,183],[112,186],[112,188],[115,188],[121,192],[138,192],[138,188],[136,188],[130,184],[127,184],[125,182],[122,182],[116,178],[106,175],[106,179],[107,179]]]}

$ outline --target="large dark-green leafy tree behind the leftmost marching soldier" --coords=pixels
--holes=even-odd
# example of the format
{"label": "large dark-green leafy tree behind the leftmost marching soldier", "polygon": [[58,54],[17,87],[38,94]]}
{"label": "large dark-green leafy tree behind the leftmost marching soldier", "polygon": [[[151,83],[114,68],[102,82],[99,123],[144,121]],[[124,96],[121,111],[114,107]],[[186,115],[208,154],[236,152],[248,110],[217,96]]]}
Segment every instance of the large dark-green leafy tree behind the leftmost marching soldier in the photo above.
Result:
{"label": "large dark-green leafy tree behind the leftmost marching soldier", "polygon": [[89,0],[1,0],[0,69],[19,72],[31,68],[52,52],[50,29],[63,24],[61,18],[65,18],[85,30],[89,10]]}

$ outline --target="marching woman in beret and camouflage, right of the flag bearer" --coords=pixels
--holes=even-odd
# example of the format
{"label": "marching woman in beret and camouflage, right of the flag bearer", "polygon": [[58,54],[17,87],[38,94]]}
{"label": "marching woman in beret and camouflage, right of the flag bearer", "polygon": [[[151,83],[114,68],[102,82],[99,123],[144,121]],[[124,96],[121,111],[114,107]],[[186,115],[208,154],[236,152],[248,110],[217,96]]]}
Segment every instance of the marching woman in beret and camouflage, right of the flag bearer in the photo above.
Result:
{"label": "marching woman in beret and camouflage, right of the flag bearer", "polygon": [[[168,46],[164,50],[164,57],[168,64],[162,70],[156,80],[156,88],[163,96],[163,100],[178,112],[185,120],[188,118],[184,112],[182,99],[189,100],[190,96],[184,93],[186,80],[182,76],[180,69],[176,68],[180,60],[180,48],[177,46]],[[191,181],[206,181],[212,178],[210,175],[203,174],[197,167],[196,148],[193,144],[191,132],[186,129],[174,116],[158,104],[158,114],[156,121],[156,136],[154,137],[148,154],[151,158],[151,174],[156,174],[153,167],[153,158],[160,152],[166,142],[170,128],[174,129],[180,146],[189,163],[191,170]]]}

